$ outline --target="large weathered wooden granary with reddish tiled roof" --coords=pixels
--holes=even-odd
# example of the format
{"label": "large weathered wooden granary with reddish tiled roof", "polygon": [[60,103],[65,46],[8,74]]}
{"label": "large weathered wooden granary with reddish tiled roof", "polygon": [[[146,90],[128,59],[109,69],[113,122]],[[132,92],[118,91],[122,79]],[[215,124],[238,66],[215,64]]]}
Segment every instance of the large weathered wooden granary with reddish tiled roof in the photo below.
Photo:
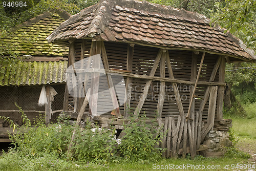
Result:
{"label": "large weathered wooden granary with reddish tiled roof", "polygon": [[[73,95],[86,84],[91,103],[85,113],[92,120],[118,126],[144,113],[168,130],[162,143],[168,148],[166,157],[177,156],[180,149],[184,156],[187,147],[194,157],[215,122],[225,122],[226,61],[255,60],[240,39],[209,22],[196,12],[137,0],[100,1],[71,16],[47,38],[70,49],[67,74],[72,79],[67,80],[63,112],[77,116],[86,95],[72,97],[68,82]],[[104,73],[97,59],[90,57],[97,54],[103,61],[103,80],[98,79]],[[109,100],[99,106],[100,97],[92,95],[104,85],[112,88],[113,74],[124,78],[125,103],[110,89]],[[98,109],[110,110],[97,116]]]}

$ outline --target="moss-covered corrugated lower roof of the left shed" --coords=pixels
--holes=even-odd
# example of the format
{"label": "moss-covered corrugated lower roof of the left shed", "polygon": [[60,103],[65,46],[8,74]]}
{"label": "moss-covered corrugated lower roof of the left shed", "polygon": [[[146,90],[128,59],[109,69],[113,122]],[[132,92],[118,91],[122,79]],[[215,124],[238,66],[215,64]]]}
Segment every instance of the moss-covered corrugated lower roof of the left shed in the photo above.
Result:
{"label": "moss-covered corrugated lower roof of the left shed", "polygon": [[0,74],[0,86],[25,86],[65,82],[67,63],[68,61],[18,61],[16,65],[6,66],[5,73]]}

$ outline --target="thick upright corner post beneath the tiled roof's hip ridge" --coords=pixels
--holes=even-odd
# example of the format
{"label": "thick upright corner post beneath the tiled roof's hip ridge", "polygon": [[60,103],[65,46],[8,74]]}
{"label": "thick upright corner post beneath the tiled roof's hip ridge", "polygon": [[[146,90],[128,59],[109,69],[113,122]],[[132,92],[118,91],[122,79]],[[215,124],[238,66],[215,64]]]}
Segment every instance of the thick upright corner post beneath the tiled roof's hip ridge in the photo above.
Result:
{"label": "thick upright corner post beneath the tiled roof's hip ridge", "polygon": [[[95,44],[92,44],[92,46]],[[100,54],[101,54],[101,41],[96,41],[96,55],[92,59],[92,67],[94,69],[100,69]],[[99,77],[100,73],[94,72],[92,73],[92,79],[91,79],[91,97],[90,97],[90,110],[92,116],[97,115],[97,105],[98,105],[98,92],[99,92]]]}

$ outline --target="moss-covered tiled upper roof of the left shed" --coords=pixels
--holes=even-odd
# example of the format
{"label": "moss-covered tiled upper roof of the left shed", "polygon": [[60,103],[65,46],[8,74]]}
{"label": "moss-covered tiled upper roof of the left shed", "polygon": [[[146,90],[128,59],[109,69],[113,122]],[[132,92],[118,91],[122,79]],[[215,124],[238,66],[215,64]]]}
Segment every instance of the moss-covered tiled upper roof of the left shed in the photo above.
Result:
{"label": "moss-covered tiled upper roof of the left shed", "polygon": [[67,47],[49,44],[46,37],[70,16],[66,11],[53,10],[14,27],[10,35],[0,39],[0,46],[6,47],[4,55],[9,55],[9,50],[18,55],[68,56]]}

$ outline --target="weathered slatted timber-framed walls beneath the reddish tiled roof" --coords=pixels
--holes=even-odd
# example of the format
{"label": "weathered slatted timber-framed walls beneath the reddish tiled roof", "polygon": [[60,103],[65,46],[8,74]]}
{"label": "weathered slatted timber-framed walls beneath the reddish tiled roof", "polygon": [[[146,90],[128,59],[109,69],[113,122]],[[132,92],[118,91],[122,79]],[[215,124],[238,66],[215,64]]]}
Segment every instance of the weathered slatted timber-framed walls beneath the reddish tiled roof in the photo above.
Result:
{"label": "weathered slatted timber-framed walls beneath the reddish tiled roof", "polygon": [[[113,51],[113,47],[119,49],[123,54],[126,53],[125,57],[122,57],[122,63],[120,63],[121,61],[118,61],[116,57],[112,57],[114,55],[113,53],[119,53],[118,51]],[[115,118],[113,118],[110,113],[106,113],[91,117],[91,121],[98,122],[102,126],[116,125],[116,127],[120,129],[122,128],[121,125],[123,122],[126,123],[129,121],[129,116],[132,115],[138,118],[145,112],[148,118],[157,119],[159,126],[163,127],[164,132],[168,130],[167,136],[164,137],[162,140],[163,143],[161,143],[162,147],[167,148],[167,152],[163,154],[165,157],[176,158],[178,154],[182,154],[183,157],[185,157],[186,153],[191,153],[191,157],[195,157],[197,151],[205,149],[201,143],[209,130],[213,129],[215,119],[223,119],[222,103],[225,87],[223,78],[225,76],[226,60],[222,55],[211,55],[205,52],[175,51],[155,48],[153,51],[156,55],[155,57],[151,55],[151,58],[147,57],[147,61],[151,62],[148,64],[150,68],[145,72],[146,74],[143,74],[143,72],[140,72],[138,68],[135,67],[135,65],[138,65],[135,64],[136,59],[138,59],[138,56],[135,57],[135,53],[141,51],[141,48],[141,46],[134,44],[116,44],[102,40],[91,41],[85,39],[75,40],[70,44],[68,67],[86,57],[88,57],[88,61],[90,61],[88,63],[91,63],[91,56],[100,54],[105,73],[108,75],[109,88],[113,87],[111,74],[120,74],[125,78],[125,104],[119,106],[115,91],[111,92],[111,102],[114,104],[113,110]],[[148,48],[148,50],[150,49]],[[183,61],[182,63],[179,59],[182,58],[182,55],[170,56],[173,52],[188,55],[185,56],[186,60],[188,60],[186,66],[185,62]],[[143,57],[143,54],[141,55],[142,56],[139,58]],[[202,72],[199,81],[196,82],[202,56],[205,56],[205,59],[201,67]],[[143,62],[145,63],[145,61]],[[126,67],[120,69],[120,65]],[[80,67],[82,68],[83,66]],[[183,68],[188,68],[188,70],[186,70],[187,73],[185,73],[185,71],[184,73],[179,73],[179,68],[182,68],[182,70],[184,70]],[[67,74],[74,75],[74,72],[72,73],[72,71],[67,70]],[[88,73],[86,73],[85,70],[76,70],[76,74],[80,74],[78,76],[79,79],[88,81]],[[98,75],[100,73],[95,71],[93,74],[96,74],[96,76],[94,76],[95,78],[99,78]],[[186,78],[185,75],[189,75],[190,78]],[[176,76],[180,78],[176,78]],[[182,77],[184,77],[184,79],[182,79]],[[75,77],[72,77],[72,79],[73,78]],[[72,81],[74,83],[74,89],[83,89],[77,86],[76,81],[77,80]],[[98,90],[99,79],[92,80],[91,84],[87,81],[84,81],[84,86],[91,88],[92,95],[93,91]],[[144,89],[136,92],[133,87],[141,84],[144,84]],[[195,91],[196,93],[193,95],[192,92],[194,91],[195,84],[198,86]],[[157,87],[157,91],[150,90],[153,85],[155,88]],[[167,87],[171,87],[172,90],[167,90],[166,85]],[[188,87],[188,90],[184,92],[179,87]],[[140,94],[140,98],[137,99],[137,101],[131,100],[136,99],[136,95],[133,95],[134,93]],[[146,97],[148,94],[152,95],[152,93],[158,94],[158,98],[152,101],[147,100]],[[167,97],[165,95],[169,93],[172,93],[175,98],[171,100],[164,98]],[[188,98],[184,99],[185,96]],[[185,118],[185,114],[188,112],[188,102],[191,98],[193,100],[190,106],[191,119],[189,120]],[[72,98],[69,95],[69,91],[66,89],[63,112],[69,113],[73,118],[77,118],[83,100],[84,98]],[[96,114],[97,112],[97,97],[95,96],[94,99],[91,98],[90,100],[93,102],[91,104],[89,103],[85,117],[92,116],[92,113]],[[72,107],[70,107],[70,104],[72,104]],[[132,106],[132,108],[129,106]],[[172,112],[174,108],[177,109],[177,112]],[[202,121],[206,123],[202,125]]]}

